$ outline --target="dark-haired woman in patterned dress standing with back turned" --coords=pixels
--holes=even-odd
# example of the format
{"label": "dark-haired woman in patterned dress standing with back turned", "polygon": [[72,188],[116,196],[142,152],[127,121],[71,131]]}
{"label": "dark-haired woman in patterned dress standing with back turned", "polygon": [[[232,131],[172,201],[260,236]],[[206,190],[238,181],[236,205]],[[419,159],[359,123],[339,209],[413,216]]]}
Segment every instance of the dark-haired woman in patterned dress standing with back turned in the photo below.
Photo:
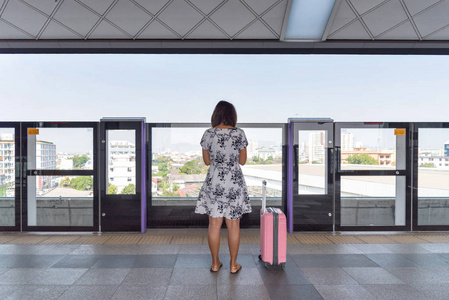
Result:
{"label": "dark-haired woman in patterned dress standing with back turned", "polygon": [[218,258],[220,229],[223,217],[228,228],[231,254],[230,269],[235,274],[242,269],[237,263],[240,246],[240,218],[251,212],[245,179],[239,166],[246,163],[245,132],[235,127],[237,113],[226,101],[218,102],[211,118],[212,128],[201,139],[203,160],[210,165],[206,180],[200,190],[195,212],[209,215],[208,240],[212,254],[211,272],[217,272],[222,263]]}

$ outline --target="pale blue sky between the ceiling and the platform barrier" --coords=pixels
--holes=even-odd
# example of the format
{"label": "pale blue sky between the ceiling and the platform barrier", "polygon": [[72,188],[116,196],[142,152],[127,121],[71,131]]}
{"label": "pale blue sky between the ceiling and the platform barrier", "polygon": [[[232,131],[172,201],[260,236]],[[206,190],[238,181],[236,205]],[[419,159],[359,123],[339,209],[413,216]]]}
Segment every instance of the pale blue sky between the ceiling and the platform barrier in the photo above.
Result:
{"label": "pale blue sky between the ceiling and the platform barrier", "polygon": [[447,121],[447,56],[2,54],[4,121]]}

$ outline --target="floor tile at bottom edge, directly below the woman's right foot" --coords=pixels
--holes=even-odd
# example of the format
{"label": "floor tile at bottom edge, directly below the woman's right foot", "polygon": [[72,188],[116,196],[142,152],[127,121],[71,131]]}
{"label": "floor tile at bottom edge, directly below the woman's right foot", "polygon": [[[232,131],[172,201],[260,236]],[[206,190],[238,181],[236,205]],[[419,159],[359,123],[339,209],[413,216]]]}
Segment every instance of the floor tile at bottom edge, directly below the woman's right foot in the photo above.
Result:
{"label": "floor tile at bottom edge, directly below the woman's right foot", "polygon": [[[218,300],[270,300],[265,286],[217,285]],[[284,298],[285,299],[285,298]]]}

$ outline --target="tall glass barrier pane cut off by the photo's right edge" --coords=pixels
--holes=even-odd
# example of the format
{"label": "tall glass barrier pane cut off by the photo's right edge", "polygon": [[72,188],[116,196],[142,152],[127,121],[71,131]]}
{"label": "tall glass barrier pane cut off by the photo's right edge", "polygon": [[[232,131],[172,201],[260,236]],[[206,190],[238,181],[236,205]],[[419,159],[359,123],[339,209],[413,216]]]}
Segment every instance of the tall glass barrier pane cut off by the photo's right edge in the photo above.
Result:
{"label": "tall glass barrier pane cut off by the photo's right edge", "polygon": [[418,129],[418,225],[449,225],[449,129]]}

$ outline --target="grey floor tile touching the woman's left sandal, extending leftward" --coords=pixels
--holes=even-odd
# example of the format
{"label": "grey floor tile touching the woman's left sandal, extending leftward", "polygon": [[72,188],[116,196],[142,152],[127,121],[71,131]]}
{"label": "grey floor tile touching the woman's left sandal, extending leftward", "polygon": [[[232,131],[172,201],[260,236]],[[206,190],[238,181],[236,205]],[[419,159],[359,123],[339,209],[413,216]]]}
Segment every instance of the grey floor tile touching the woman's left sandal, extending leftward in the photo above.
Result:
{"label": "grey floor tile touching the woman's left sandal, extending leftward", "polygon": [[[220,273],[220,272],[219,272]],[[209,269],[173,269],[170,285],[210,285],[217,283],[217,274]]]}

